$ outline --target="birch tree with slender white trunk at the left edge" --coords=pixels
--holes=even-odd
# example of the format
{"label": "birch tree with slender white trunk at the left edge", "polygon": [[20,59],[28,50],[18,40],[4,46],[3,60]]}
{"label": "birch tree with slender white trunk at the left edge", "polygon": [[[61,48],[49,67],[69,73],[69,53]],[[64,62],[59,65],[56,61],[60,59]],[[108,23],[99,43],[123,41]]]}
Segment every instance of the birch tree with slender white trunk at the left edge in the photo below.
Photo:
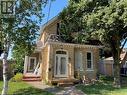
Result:
{"label": "birch tree with slender white trunk at the left edge", "polygon": [[0,29],[2,31],[3,51],[3,90],[2,95],[7,95],[7,57],[12,46],[14,50],[24,48],[24,54],[28,55],[33,50],[36,40],[39,22],[44,16],[42,8],[48,0],[16,0],[15,17],[2,17]]}

